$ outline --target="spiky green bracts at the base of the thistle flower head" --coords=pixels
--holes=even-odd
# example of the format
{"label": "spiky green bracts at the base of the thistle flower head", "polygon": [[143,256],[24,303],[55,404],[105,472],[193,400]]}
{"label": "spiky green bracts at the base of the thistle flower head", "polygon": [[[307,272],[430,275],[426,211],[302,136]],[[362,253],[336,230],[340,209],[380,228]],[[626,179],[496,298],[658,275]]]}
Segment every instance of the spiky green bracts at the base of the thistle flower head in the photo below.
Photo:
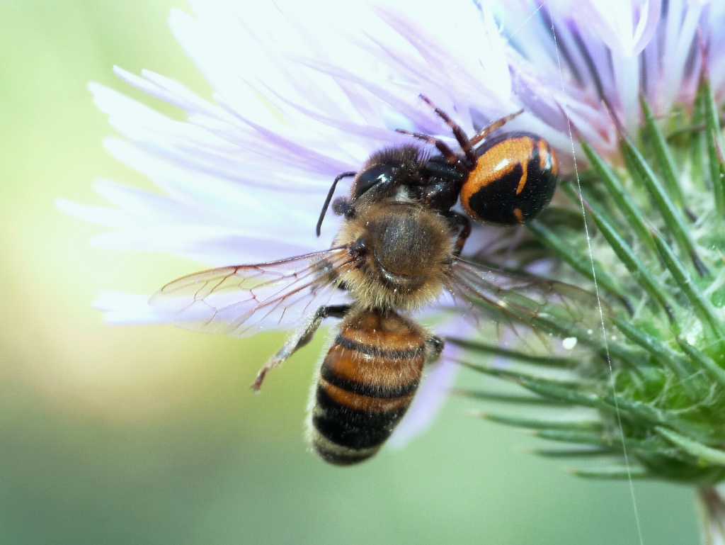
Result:
{"label": "spiky green bracts at the base of the thistle flower head", "polygon": [[[587,167],[561,187],[570,205],[529,225],[556,279],[589,295],[479,302],[519,344],[453,341],[465,366],[526,390],[467,394],[488,402],[479,416],[560,445],[538,454],[581,462],[583,478],[689,483],[708,499],[725,480],[724,138],[706,79],[668,134],[644,99],[642,113],[616,163],[581,142]],[[572,210],[579,224],[560,221]]]}

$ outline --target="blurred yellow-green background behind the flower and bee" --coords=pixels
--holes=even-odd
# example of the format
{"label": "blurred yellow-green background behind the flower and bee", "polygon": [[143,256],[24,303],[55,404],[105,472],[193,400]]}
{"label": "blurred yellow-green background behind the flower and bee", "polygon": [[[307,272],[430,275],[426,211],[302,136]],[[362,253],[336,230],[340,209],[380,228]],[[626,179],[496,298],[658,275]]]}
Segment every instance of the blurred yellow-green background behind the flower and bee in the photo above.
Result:
{"label": "blurred yellow-green background behind the flower and bee", "polygon": [[[329,467],[302,440],[321,340],[252,396],[281,337],[101,321],[100,290],[152,292],[195,266],[92,247],[99,231],[54,205],[101,202],[99,176],[146,186],[104,153],[89,80],[141,98],[111,67],[150,68],[208,96],[167,30],[173,6],[0,2],[0,543],[637,543],[626,483],[534,458],[542,443],[466,417],[472,401],[402,451]],[[697,543],[689,490],[635,493],[645,544]]]}

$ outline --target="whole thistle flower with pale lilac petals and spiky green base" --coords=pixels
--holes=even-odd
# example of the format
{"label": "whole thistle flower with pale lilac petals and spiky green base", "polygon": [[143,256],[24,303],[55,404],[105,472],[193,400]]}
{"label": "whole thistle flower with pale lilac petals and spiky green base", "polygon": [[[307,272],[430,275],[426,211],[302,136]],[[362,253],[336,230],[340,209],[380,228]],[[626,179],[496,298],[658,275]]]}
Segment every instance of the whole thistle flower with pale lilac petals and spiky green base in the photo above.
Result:
{"label": "whole thistle flower with pale lilac petals and spiky green base", "polygon": [[[109,151],[163,194],[104,181],[97,189],[111,207],[61,208],[111,228],[99,237],[110,247],[208,265],[282,258],[329,245],[334,219],[321,239],[312,226],[331,179],[376,149],[407,143],[395,128],[450,141],[419,93],[471,133],[523,108],[510,128],[547,139],[565,176],[555,206],[529,224],[529,242],[507,264],[538,260],[596,292],[602,305],[592,314],[603,335],[551,306],[537,314],[537,329],[564,339],[565,352],[579,345],[576,360],[523,353],[538,342],[526,334],[518,350],[454,340],[466,355],[448,353],[407,421],[423,427],[452,384],[451,362],[463,360],[573,415],[488,419],[576,445],[547,456],[613,460],[576,470],[583,477],[697,486],[706,528],[721,528],[714,487],[725,476],[725,5],[470,2],[447,6],[441,24],[439,8],[425,2],[261,5],[253,20],[235,2],[190,3],[194,15],[175,11],[170,25],[212,100],[157,73],[116,69],[178,107],[178,121],[91,84],[122,136]],[[476,229],[468,251],[484,247],[492,255],[490,237]],[[111,321],[165,321],[146,300],[107,294],[99,306]],[[492,352],[509,363],[486,363]]]}

